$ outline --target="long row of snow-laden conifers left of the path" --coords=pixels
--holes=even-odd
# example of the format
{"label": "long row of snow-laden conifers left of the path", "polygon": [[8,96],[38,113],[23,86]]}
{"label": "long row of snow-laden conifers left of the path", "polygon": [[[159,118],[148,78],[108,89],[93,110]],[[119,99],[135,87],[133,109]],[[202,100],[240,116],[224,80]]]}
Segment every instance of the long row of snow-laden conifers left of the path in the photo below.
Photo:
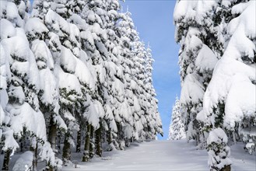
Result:
{"label": "long row of snow-laden conifers left of the path", "polygon": [[117,0],[1,1],[2,169],[17,148],[33,169],[44,160],[53,170],[72,146],[86,162],[103,144],[162,134],[150,48],[120,9]]}

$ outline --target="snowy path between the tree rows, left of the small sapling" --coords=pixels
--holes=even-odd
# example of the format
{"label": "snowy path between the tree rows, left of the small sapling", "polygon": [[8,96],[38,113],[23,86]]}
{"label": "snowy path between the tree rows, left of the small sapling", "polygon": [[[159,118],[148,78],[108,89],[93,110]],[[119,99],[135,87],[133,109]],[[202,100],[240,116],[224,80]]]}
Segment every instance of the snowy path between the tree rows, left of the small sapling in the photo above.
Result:
{"label": "snowy path between the tree rows, left of the small sapling", "polygon": [[[191,156],[184,159],[184,156]],[[110,160],[94,159],[89,163],[79,163],[81,170],[207,170],[207,153],[191,148],[188,143],[177,141],[150,141],[132,144],[125,151],[106,152]],[[202,163],[195,165],[195,163]],[[71,168],[63,168],[71,169]],[[73,168],[74,169],[74,168]],[[79,170],[77,169],[77,170]],[[76,170],[76,169],[75,169]]]}

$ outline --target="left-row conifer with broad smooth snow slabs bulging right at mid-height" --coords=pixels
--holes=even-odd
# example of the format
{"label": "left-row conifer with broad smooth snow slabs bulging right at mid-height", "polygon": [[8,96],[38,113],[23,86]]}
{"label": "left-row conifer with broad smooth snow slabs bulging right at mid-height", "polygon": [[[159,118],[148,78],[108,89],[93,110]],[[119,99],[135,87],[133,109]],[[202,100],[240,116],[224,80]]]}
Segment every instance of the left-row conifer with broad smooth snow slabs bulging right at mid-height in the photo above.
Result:
{"label": "left-row conifer with broad smooth snow slabs bulging right at mid-height", "polygon": [[[37,12],[40,9],[38,7],[40,4],[39,2],[35,4],[35,12],[33,13],[41,15],[47,29],[50,30],[47,35],[50,38],[47,45],[54,57],[54,74],[58,79],[58,89],[61,96],[59,99],[61,109],[58,113],[61,114],[62,119],[65,120],[65,124],[68,126],[66,127],[68,133],[65,134],[63,158],[69,160],[70,145],[74,145],[72,143],[74,142],[72,132],[79,131],[79,127],[84,127],[81,124],[86,106],[84,102],[86,93],[94,89],[94,79],[85,63],[87,55],[84,51],[81,51],[79,28],[73,23],[68,23],[68,21],[77,22],[75,14],[68,9],[70,5],[73,5],[72,2],[44,2],[42,3],[44,9],[41,14]],[[79,9],[77,10],[79,11]],[[47,11],[47,13],[44,11]],[[69,19],[69,16],[76,20]],[[58,120],[50,120],[51,125],[57,124],[56,126],[58,126],[58,123],[54,123],[56,121]],[[56,131],[51,130],[51,133],[53,132],[55,133],[52,134],[52,138],[56,139]]]}

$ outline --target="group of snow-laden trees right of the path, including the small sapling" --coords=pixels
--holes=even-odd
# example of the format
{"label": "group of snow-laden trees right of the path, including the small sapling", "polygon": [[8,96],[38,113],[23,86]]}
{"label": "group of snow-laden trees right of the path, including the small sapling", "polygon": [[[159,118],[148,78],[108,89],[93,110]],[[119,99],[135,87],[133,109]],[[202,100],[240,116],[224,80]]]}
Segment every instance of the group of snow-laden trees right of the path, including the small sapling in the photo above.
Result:
{"label": "group of snow-laden trees right of the path, including the small sapling", "polygon": [[177,1],[181,114],[188,140],[209,151],[211,170],[230,168],[228,141],[256,147],[256,2]]}

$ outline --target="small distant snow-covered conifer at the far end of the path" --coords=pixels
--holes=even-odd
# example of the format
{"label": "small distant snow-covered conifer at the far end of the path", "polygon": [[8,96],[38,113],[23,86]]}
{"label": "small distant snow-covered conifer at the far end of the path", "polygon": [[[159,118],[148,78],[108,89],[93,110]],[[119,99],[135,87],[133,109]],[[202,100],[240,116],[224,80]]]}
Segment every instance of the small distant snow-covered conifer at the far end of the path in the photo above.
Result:
{"label": "small distant snow-covered conifer at the far end of the path", "polygon": [[169,127],[169,140],[180,140],[186,138],[184,124],[181,119],[181,103],[176,97],[175,105],[171,114],[171,123]]}

